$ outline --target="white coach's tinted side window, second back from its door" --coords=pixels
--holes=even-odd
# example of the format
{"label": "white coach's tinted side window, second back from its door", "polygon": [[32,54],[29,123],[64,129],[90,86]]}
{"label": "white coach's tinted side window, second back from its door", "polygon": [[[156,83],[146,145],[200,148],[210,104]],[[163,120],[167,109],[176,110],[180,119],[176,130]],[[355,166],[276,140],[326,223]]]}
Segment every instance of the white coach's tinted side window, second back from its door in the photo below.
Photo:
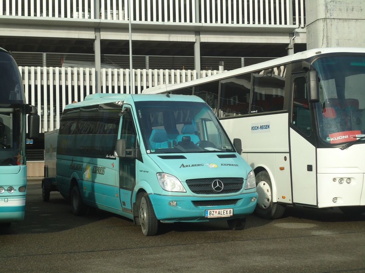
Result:
{"label": "white coach's tinted side window, second back from its door", "polygon": [[251,74],[224,79],[220,85],[219,117],[249,113]]}

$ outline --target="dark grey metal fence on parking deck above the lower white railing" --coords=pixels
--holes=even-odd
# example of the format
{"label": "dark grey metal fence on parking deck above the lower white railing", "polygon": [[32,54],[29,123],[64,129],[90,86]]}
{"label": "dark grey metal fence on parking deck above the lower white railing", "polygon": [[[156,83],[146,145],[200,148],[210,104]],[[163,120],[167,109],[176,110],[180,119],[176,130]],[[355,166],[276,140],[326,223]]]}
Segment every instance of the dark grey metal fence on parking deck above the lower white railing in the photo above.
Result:
{"label": "dark grey metal fence on parking deck above the lower white railing", "polygon": [[[35,67],[95,67],[94,54],[69,54],[46,52],[12,52],[18,66]],[[261,57],[201,57],[201,70],[233,70],[251,64],[265,62],[274,58]],[[193,70],[193,56],[132,56],[134,69],[174,69]],[[101,55],[101,68],[129,68],[129,55]]]}

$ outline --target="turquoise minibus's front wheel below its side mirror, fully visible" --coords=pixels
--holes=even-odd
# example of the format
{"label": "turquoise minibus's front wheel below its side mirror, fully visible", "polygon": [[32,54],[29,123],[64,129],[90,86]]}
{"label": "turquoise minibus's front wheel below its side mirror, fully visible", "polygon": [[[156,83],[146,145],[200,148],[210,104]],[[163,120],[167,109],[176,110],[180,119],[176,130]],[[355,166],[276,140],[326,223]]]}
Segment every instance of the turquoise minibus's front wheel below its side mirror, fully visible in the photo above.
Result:
{"label": "turquoise minibus's front wheel below its side mirror, fully visible", "polygon": [[157,234],[158,220],[153,211],[152,203],[148,195],[141,199],[141,206],[139,207],[139,222],[141,223],[142,232],[146,236],[153,236]]}

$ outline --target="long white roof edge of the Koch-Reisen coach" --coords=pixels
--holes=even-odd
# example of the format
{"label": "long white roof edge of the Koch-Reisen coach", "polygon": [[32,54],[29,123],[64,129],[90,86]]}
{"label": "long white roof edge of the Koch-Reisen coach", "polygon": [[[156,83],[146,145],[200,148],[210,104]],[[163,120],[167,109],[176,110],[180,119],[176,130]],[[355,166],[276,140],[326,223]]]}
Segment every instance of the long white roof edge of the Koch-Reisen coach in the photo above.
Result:
{"label": "long white roof edge of the Koch-Reisen coach", "polygon": [[340,53],[340,52],[342,52],[342,53],[365,53],[365,48],[355,48],[355,47],[315,48],[315,49],[311,49],[311,50],[298,52],[293,55],[269,60],[266,62],[253,64],[251,66],[237,68],[237,69],[226,71],[223,73],[214,74],[214,75],[211,75],[208,77],[191,80],[191,81],[184,82],[184,83],[161,84],[158,86],[146,88],[142,91],[142,93],[143,94],[158,94],[158,93],[168,92],[168,91],[172,91],[175,89],[180,89],[180,88],[184,88],[184,87],[188,87],[188,86],[192,86],[192,85],[195,86],[200,83],[215,81],[215,80],[224,79],[224,78],[230,78],[237,74],[244,74],[244,73],[248,73],[248,72],[262,70],[266,67],[274,67],[279,64],[291,63],[291,62],[294,62],[297,60],[308,59],[313,56],[318,56],[318,55],[328,54],[328,53],[336,53],[336,52],[338,52],[338,53]]}

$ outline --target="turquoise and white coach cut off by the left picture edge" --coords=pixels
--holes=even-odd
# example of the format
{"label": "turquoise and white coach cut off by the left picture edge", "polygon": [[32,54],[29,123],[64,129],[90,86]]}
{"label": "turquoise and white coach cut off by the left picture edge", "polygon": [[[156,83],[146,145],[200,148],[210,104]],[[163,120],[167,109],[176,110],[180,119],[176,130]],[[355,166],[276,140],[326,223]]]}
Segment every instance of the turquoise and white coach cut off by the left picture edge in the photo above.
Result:
{"label": "turquoise and white coach cut off by the left picture edge", "polygon": [[0,226],[24,219],[28,138],[38,138],[37,108],[26,104],[22,78],[10,52],[0,48]]}

